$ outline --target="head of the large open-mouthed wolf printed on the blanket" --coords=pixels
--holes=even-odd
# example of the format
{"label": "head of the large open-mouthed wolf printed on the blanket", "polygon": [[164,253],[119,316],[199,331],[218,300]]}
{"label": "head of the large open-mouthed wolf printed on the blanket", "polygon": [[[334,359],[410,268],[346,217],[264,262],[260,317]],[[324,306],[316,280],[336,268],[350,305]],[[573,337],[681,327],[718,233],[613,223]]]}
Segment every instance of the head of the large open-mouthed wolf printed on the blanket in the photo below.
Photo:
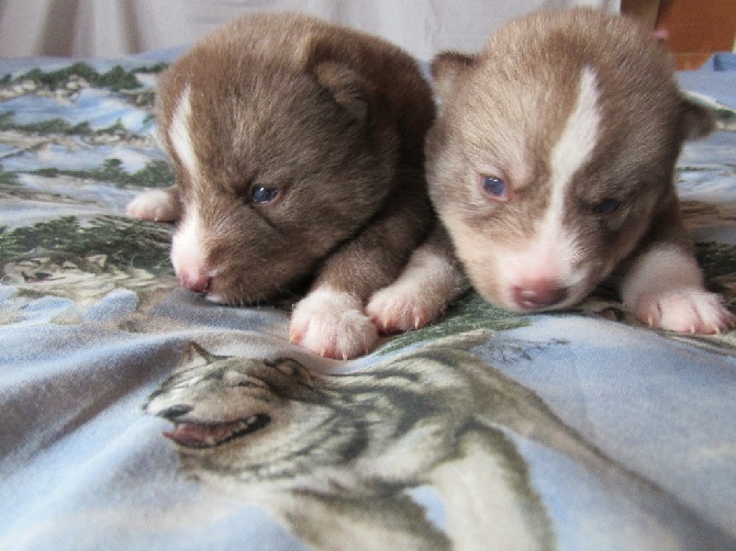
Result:
{"label": "head of the large open-mouthed wolf printed on the blanket", "polygon": [[264,480],[341,462],[358,446],[359,429],[341,423],[347,415],[290,358],[220,357],[190,344],[145,409],[174,423],[165,436],[185,458]]}

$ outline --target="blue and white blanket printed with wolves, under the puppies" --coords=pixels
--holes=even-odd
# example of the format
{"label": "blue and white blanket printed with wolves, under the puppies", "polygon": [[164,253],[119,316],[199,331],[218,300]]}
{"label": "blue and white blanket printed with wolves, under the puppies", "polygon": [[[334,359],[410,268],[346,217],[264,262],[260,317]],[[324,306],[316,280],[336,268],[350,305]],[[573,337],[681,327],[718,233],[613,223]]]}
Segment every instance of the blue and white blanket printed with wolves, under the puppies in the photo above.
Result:
{"label": "blue and white blanket printed with wolves, under the puppies", "polygon": [[[124,215],[172,182],[174,55],[0,63],[0,548],[736,549],[736,331],[470,293],[337,362],[178,289],[171,227]],[[680,77],[721,119],[678,178],[734,310],[736,71]]]}

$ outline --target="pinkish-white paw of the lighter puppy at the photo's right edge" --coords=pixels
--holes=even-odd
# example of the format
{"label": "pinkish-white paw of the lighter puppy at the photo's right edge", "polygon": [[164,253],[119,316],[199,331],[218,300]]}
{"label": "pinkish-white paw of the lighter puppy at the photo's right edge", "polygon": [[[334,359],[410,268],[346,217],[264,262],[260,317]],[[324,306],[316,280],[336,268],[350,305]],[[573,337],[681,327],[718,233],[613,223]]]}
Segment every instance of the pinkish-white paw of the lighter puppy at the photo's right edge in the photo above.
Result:
{"label": "pinkish-white paw of the lighter puppy at the photo's right edge", "polygon": [[640,296],[634,313],[645,324],[679,333],[711,335],[733,326],[734,316],[718,295],[684,288]]}

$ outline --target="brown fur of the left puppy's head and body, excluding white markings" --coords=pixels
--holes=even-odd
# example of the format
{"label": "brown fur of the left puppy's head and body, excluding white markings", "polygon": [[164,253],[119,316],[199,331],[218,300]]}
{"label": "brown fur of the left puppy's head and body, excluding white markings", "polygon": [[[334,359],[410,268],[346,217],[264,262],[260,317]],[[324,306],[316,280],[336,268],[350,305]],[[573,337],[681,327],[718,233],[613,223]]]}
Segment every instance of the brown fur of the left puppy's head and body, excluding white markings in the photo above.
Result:
{"label": "brown fur of the left puppy's head and body, excluding white markings", "polygon": [[[312,19],[250,15],[169,69],[159,88],[161,128],[185,86],[205,185],[194,189],[178,170],[179,190],[185,211],[197,202],[208,228],[227,220],[208,244],[208,258],[226,263],[227,302],[271,299],[353,238],[370,241],[364,252],[375,261],[364,260],[365,270],[342,263],[325,278],[365,300],[395,277],[430,217],[421,167],[433,108],[409,56]],[[254,181],[289,189],[261,209],[247,204]],[[389,195],[390,206],[403,203],[403,223],[382,212]],[[377,224],[401,243],[376,239]]]}

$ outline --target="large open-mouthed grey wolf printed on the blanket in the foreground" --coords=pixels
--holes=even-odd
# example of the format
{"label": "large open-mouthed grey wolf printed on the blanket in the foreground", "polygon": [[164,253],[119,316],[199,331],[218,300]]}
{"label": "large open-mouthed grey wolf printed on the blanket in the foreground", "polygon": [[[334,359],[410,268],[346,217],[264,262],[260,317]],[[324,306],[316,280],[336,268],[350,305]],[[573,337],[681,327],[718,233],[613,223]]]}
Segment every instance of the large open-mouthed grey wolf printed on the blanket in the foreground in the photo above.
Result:
{"label": "large open-mouthed grey wolf printed on the blanket in the foreground", "polygon": [[[517,438],[604,473],[617,492],[644,491],[657,537],[685,517],[700,522],[468,351],[488,337],[441,339],[339,375],[190,344],[146,411],[174,424],[165,435],[188,474],[260,505],[315,549],[556,549]],[[422,487],[439,495],[442,526],[412,498]],[[658,515],[668,509],[682,517]]]}

